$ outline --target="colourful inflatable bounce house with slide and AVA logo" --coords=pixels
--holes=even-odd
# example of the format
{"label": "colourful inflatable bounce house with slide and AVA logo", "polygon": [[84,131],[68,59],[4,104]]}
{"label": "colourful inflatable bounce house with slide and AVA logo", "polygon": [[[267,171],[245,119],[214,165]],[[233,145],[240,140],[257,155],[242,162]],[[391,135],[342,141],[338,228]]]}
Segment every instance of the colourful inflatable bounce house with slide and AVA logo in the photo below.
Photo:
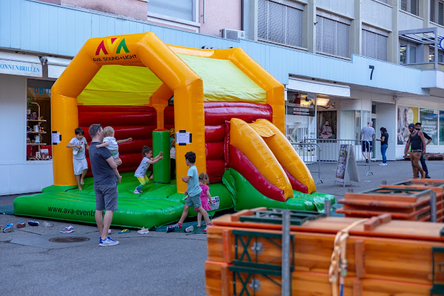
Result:
{"label": "colourful inflatable bounce house with slide and AVA logo", "polygon": [[[123,176],[113,225],[153,227],[180,219],[186,176],[184,155],[194,151],[199,171],[210,176],[214,211],[267,206],[323,210],[332,195],[316,193],[304,162],[284,136],[284,86],[240,48],[193,49],[166,45],[155,34],[92,38],[51,90],[54,185],[18,197],[19,215],[95,223],[93,177],[79,191],[72,149],[82,127],[114,127]],[[177,144],[176,180],[170,180],[170,132]],[[143,193],[134,171],[143,146],[163,151]],[[104,148],[105,149],[105,148]],[[88,156],[88,153],[87,153]],[[88,160],[89,162],[89,160]],[[125,173],[126,172],[126,173]],[[332,204],[334,201],[332,201]],[[210,214],[214,214],[210,212]],[[190,210],[190,215],[196,214]]]}

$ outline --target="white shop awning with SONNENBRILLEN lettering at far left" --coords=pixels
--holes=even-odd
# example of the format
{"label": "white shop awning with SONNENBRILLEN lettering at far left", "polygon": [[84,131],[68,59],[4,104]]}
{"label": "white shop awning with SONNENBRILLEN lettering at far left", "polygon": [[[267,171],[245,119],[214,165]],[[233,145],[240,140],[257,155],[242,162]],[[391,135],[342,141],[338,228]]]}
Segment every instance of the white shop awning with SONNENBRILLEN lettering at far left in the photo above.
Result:
{"label": "white shop awning with SONNENBRILLEN lettering at far left", "polygon": [[0,74],[42,77],[38,56],[0,51]]}

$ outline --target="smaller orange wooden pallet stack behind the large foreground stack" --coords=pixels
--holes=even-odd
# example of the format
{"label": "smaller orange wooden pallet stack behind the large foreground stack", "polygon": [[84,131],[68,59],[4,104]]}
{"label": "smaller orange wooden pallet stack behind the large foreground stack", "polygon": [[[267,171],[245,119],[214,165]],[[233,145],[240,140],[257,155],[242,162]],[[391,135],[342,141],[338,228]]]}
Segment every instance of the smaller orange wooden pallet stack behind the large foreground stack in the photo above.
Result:
{"label": "smaller orange wooden pallet stack behind the large foreground stack", "polygon": [[[338,204],[344,206],[336,212],[345,214],[345,217],[391,214],[393,219],[430,221],[431,193],[432,189],[414,186],[384,186],[363,193],[345,193],[343,199],[338,199]],[[442,195],[437,203],[442,208],[444,203]]]}

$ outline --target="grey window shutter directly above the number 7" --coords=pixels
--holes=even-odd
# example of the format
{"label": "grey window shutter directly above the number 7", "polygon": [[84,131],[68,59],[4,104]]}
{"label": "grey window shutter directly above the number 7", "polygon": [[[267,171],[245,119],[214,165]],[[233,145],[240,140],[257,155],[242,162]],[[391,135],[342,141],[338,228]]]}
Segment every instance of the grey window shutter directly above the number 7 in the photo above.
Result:
{"label": "grey window shutter directly above the number 7", "polygon": [[350,26],[319,15],[316,21],[316,50],[349,58]]}

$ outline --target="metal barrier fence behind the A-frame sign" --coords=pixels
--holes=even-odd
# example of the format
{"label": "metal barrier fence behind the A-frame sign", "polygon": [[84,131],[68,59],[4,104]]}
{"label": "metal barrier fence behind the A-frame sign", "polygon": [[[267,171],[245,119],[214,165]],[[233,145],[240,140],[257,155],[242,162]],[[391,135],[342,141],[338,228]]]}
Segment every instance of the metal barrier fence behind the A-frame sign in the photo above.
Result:
{"label": "metal barrier fence behind the A-frame sign", "polygon": [[[370,145],[368,140],[345,140],[345,139],[306,139],[307,144],[317,145],[319,153],[317,153],[317,161],[319,163],[338,163],[339,150],[342,144],[353,145],[354,156],[356,164],[368,167],[366,176],[373,172],[371,171],[371,151],[369,152],[369,162],[365,161],[365,157],[362,155],[362,145]],[[299,144],[299,143],[298,143]],[[292,143],[293,145],[293,143]],[[374,149],[374,145],[372,147]]]}

